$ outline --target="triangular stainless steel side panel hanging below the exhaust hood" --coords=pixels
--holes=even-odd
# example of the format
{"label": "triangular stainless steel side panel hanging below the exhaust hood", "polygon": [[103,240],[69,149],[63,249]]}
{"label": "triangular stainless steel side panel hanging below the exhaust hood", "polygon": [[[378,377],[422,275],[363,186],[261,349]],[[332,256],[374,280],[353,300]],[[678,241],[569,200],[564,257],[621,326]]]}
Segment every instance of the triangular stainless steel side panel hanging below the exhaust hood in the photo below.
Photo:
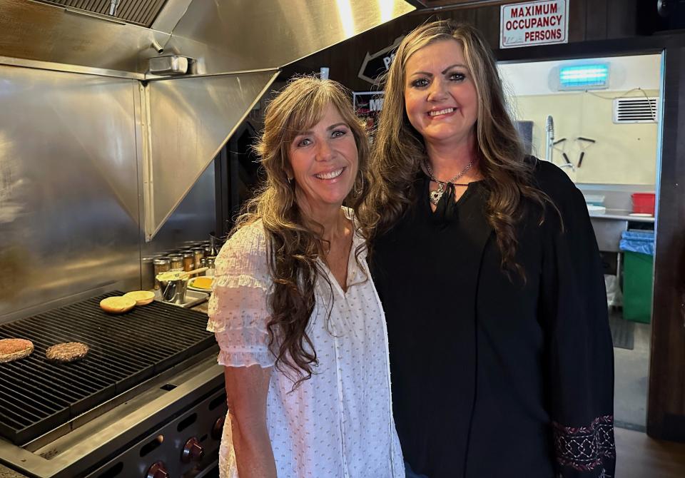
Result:
{"label": "triangular stainless steel side panel hanging below the exhaust hood", "polygon": [[278,71],[148,83],[146,238],[150,240]]}

